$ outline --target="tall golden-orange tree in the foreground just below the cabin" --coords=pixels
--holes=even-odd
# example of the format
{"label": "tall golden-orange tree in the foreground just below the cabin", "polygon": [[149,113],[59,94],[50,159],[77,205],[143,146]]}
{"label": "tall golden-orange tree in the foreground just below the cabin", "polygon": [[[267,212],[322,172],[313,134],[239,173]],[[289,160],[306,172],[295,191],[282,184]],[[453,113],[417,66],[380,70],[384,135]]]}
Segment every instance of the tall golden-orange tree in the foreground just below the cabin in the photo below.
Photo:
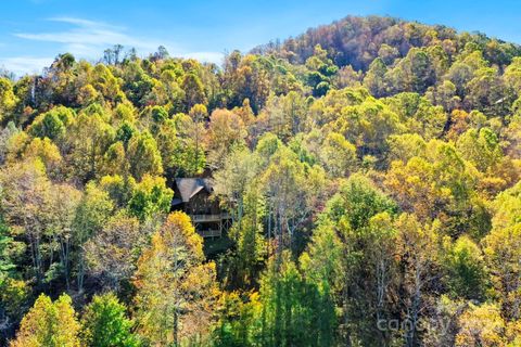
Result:
{"label": "tall golden-orange tree in the foreground just below the cabin", "polygon": [[203,260],[202,237],[190,218],[170,214],[136,272],[138,331],[151,344],[180,346],[207,329],[217,287],[215,265]]}

